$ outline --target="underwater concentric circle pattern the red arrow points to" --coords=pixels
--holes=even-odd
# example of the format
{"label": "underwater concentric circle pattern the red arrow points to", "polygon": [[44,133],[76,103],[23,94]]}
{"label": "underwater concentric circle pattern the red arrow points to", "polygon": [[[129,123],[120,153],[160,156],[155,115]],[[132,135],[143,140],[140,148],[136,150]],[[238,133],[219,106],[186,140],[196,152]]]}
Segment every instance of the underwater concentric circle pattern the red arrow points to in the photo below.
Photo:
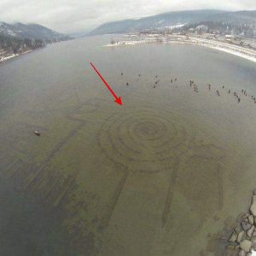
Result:
{"label": "underwater concentric circle pattern the red arrow points to", "polygon": [[131,171],[160,172],[188,149],[187,126],[172,112],[128,108],[108,117],[99,144],[110,160]]}

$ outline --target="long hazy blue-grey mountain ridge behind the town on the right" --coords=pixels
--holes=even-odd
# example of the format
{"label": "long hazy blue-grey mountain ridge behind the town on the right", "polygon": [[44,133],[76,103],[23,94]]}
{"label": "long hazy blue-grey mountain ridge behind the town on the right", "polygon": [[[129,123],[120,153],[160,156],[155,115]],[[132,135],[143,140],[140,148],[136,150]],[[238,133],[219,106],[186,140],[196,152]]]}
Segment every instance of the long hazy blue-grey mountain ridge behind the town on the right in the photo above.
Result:
{"label": "long hazy blue-grey mountain ridge behind the town on the right", "polygon": [[137,20],[120,20],[102,24],[89,35],[138,32],[177,24],[199,23],[201,21],[223,21],[234,24],[256,24],[256,11],[226,12],[220,10],[192,10],[169,12]]}

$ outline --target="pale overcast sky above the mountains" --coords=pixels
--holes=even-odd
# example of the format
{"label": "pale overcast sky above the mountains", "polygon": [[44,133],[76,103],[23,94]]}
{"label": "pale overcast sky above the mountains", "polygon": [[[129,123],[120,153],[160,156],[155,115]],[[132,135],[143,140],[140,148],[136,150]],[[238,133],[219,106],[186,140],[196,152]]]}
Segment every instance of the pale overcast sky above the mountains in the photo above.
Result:
{"label": "pale overcast sky above the mountains", "polygon": [[256,9],[256,0],[0,0],[0,21],[38,23],[58,32],[187,9]]}

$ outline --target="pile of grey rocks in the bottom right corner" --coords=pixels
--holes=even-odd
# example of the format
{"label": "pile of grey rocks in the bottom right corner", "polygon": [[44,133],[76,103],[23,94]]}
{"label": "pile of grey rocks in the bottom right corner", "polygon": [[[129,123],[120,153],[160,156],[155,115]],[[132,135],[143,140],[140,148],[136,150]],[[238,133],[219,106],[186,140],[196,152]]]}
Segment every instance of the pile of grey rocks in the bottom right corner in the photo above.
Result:
{"label": "pile of grey rocks in the bottom right corner", "polygon": [[253,192],[252,203],[246,214],[241,217],[240,224],[233,230],[226,255],[256,255],[256,190]]}

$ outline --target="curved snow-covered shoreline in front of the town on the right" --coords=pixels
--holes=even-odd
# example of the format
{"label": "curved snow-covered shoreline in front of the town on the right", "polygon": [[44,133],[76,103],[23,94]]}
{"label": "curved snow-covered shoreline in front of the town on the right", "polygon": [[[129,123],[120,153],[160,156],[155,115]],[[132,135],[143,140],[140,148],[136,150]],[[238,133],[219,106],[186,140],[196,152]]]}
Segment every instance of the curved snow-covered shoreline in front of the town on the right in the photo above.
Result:
{"label": "curved snow-covered shoreline in front of the town on the right", "polygon": [[186,36],[169,36],[169,37],[159,37],[159,35],[148,35],[146,38],[134,38],[133,40],[124,40],[114,44],[107,44],[105,47],[117,47],[125,45],[137,45],[137,44],[192,44],[200,45],[210,49],[217,49],[231,55],[239,56],[248,61],[253,61],[256,63],[256,50],[247,49],[236,44],[228,44],[224,42],[219,42],[217,40],[205,39],[205,38],[195,38]]}

